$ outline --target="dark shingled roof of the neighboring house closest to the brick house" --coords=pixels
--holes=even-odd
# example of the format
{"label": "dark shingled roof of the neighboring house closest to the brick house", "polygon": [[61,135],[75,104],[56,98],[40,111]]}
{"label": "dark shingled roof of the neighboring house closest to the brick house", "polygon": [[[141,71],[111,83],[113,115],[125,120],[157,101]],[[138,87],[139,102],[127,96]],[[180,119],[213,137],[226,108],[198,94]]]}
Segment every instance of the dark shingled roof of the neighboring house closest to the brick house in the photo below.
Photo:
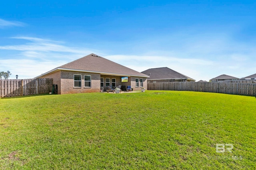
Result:
{"label": "dark shingled roof of the neighboring house closest to the brick house", "polygon": [[[168,67],[161,67],[161,68],[150,68],[148,70],[142,71],[143,74],[150,76],[148,80],[166,80],[166,79],[190,79],[188,76],[176,72]],[[194,80],[195,81],[195,80]]]}

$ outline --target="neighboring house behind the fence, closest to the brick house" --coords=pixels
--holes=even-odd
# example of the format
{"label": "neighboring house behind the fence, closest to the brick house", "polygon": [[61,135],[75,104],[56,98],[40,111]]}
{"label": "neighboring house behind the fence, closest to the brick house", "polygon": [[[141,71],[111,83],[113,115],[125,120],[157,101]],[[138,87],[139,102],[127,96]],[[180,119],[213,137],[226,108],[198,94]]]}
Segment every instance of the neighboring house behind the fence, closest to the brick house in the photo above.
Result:
{"label": "neighboring house behind the fence, closest to the brick house", "polygon": [[193,78],[185,76],[184,74],[176,72],[168,67],[150,68],[148,70],[142,71],[142,73],[150,76],[150,78],[148,78],[149,83],[196,81]]}

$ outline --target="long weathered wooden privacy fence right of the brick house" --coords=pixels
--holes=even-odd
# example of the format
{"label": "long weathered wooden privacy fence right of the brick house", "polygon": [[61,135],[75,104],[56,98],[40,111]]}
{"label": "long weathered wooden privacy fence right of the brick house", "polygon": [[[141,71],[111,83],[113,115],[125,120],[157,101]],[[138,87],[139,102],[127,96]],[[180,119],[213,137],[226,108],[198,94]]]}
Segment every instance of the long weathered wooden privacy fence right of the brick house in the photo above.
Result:
{"label": "long weathered wooden privacy fence right of the brick house", "polygon": [[178,90],[256,96],[256,83],[160,82],[148,83],[148,90]]}

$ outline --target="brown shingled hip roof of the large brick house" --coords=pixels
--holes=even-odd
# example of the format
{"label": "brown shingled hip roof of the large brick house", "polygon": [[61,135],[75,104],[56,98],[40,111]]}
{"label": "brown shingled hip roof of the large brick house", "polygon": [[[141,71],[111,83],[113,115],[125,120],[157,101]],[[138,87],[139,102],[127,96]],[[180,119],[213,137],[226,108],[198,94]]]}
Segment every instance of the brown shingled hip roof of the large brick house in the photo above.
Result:
{"label": "brown shingled hip roof of the large brick house", "polygon": [[[50,70],[42,75],[49,74],[58,70],[70,70],[70,71],[81,71],[81,72],[94,72],[106,75],[115,76],[140,76],[149,77],[143,73],[132,70],[126,66],[122,66],[118,63],[105,59],[95,54],[90,54],[70,63],[64,64],[53,70]],[[40,75],[40,76],[42,76]],[[38,76],[38,77],[40,77]]]}

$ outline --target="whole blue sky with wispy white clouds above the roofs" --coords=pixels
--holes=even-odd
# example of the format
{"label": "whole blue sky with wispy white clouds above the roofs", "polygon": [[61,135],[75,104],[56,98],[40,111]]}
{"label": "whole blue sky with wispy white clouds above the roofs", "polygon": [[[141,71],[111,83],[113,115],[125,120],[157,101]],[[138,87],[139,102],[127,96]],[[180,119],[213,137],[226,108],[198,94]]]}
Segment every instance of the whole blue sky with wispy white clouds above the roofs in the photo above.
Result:
{"label": "whole blue sky with wispy white clouds above the roofs", "polygon": [[34,78],[95,53],[139,72],[198,80],[256,73],[256,2],[0,2],[0,71]]}

